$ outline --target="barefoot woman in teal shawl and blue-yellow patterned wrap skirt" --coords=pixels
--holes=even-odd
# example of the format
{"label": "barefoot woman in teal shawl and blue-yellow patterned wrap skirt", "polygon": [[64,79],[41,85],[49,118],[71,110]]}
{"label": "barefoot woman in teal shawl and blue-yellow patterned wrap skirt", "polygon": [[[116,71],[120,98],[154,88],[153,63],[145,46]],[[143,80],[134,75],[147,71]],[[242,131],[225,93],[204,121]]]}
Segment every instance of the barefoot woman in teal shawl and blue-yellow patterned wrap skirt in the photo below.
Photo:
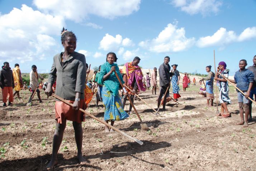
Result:
{"label": "barefoot woman in teal shawl and blue-yellow patterned wrap skirt", "polygon": [[[117,56],[113,52],[109,52],[106,57],[106,63],[101,65],[101,70],[98,77],[98,83],[103,85],[102,88],[102,101],[105,107],[104,120],[106,123],[111,121],[111,125],[114,125],[115,121],[121,121],[128,118],[129,115],[122,108],[122,102],[119,96],[120,83],[114,73],[117,72],[122,83],[123,77],[119,72],[117,64]],[[105,126],[105,132],[114,132]]]}

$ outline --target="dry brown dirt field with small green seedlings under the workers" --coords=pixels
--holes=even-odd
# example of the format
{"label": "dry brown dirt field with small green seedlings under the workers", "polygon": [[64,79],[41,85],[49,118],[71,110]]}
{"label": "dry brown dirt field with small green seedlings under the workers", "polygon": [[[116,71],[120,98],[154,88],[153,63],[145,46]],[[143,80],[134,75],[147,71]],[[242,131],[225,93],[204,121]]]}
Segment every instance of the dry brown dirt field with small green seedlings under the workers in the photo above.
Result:
{"label": "dry brown dirt field with small green seedlings under the workers", "polygon": [[[86,165],[77,164],[74,130],[72,122],[68,122],[55,170],[256,170],[256,124],[251,122],[247,128],[234,126],[240,121],[234,88],[230,91],[233,104],[228,106],[231,118],[215,116],[216,106],[206,107],[206,98],[197,93],[198,89],[199,85],[191,85],[187,92],[180,91],[180,104],[169,102],[167,111],[160,110],[162,117],[143,102],[134,101],[150,131],[140,129],[136,114],[114,126],[143,141],[142,146],[118,132],[105,133],[103,124],[86,117],[82,123]],[[54,99],[47,100],[43,94],[43,103],[39,104],[35,97],[32,106],[26,106],[29,95],[23,90],[22,100],[15,99],[12,106],[0,109],[1,171],[45,170],[51,159]],[[140,96],[157,107],[157,95],[151,91]],[[87,111],[103,119],[100,104],[96,108],[93,99]],[[128,106],[127,102],[126,110]],[[252,116],[255,121],[255,105]]]}

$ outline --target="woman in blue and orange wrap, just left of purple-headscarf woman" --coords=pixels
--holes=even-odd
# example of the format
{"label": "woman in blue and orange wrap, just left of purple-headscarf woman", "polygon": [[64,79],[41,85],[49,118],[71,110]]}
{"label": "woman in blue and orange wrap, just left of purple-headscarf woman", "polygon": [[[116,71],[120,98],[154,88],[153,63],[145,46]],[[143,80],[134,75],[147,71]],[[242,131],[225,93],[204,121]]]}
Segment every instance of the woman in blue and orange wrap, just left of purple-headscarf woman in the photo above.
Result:
{"label": "woman in blue and orange wrap, just left of purple-headscarf woman", "polygon": [[[208,76],[202,78],[202,80],[206,80],[205,86],[206,86],[206,98],[207,98],[207,106],[213,106],[213,99],[214,99],[214,94],[213,94],[213,79],[215,77],[215,74],[211,71],[212,66],[209,65],[206,67],[206,71],[208,72]],[[211,105],[209,105],[209,101],[211,101]]]}

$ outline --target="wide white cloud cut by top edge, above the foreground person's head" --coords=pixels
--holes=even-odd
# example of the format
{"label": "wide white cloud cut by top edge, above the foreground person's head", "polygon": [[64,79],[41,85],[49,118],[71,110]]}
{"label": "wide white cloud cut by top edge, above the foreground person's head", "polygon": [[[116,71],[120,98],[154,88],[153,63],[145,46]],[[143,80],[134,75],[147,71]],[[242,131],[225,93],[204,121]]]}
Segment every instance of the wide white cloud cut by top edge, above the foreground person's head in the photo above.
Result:
{"label": "wide white cloud cut by top edge, above the foreground person's head", "polygon": [[52,15],[80,22],[90,14],[113,19],[139,10],[141,0],[34,0],[34,5]]}

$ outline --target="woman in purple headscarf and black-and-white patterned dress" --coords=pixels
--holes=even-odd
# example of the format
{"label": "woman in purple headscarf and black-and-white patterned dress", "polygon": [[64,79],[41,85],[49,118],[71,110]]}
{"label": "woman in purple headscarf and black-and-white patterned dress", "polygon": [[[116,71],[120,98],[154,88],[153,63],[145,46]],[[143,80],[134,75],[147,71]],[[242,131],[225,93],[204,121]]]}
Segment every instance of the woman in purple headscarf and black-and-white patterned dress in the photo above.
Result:
{"label": "woman in purple headscarf and black-and-white patterned dress", "polygon": [[[225,62],[220,62],[217,70],[219,73],[228,78],[228,70],[226,69],[226,67],[227,64]],[[217,80],[217,83],[219,85],[219,101],[221,102],[221,113],[218,114],[218,116],[229,117],[230,113],[228,111],[227,104],[231,104],[231,100],[228,97],[228,82],[220,74],[216,75],[214,79]]]}

